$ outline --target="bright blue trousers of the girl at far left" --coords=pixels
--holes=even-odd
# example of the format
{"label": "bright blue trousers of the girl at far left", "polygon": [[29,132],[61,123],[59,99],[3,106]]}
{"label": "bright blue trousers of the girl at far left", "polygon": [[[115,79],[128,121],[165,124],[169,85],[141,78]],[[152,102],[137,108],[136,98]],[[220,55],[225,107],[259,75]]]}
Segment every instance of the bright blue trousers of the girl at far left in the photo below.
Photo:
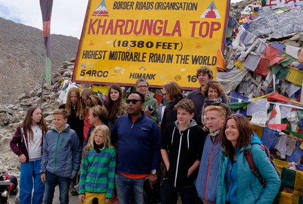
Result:
{"label": "bright blue trousers of the girl at far left", "polygon": [[[44,183],[40,179],[41,159],[21,163],[20,203],[41,204],[44,193]],[[32,194],[32,187],[34,193]]]}

